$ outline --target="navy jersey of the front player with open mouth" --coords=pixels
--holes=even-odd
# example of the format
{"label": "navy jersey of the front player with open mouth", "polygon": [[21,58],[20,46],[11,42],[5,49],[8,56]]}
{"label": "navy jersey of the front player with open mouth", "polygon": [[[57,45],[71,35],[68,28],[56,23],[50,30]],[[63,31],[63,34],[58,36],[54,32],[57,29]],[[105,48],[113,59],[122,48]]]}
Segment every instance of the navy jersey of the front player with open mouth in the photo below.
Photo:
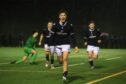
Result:
{"label": "navy jersey of the front player with open mouth", "polygon": [[53,32],[55,32],[55,45],[70,44],[72,42],[74,47],[77,46],[72,24],[68,22],[60,24],[57,22],[54,25]]}

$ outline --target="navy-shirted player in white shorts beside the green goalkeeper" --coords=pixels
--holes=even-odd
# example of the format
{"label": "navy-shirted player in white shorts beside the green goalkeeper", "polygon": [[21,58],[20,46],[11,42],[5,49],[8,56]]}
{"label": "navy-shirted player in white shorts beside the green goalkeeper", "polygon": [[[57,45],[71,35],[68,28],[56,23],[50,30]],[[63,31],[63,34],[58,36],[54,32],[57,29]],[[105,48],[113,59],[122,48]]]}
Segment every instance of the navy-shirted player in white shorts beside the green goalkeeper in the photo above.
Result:
{"label": "navy-shirted player in white shorts beside the green goalkeeper", "polygon": [[51,57],[51,69],[54,69],[54,41],[53,36],[54,32],[51,30],[53,28],[53,22],[49,21],[47,24],[47,28],[43,29],[43,32],[40,36],[39,45],[41,45],[42,40],[44,40],[44,50],[46,55],[46,63],[45,67],[49,66],[49,57]]}

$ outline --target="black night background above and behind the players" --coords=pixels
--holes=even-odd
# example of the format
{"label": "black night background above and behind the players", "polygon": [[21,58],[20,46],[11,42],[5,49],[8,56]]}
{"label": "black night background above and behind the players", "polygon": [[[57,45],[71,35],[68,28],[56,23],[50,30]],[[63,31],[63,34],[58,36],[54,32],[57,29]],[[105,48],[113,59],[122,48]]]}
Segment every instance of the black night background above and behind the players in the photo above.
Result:
{"label": "black night background above and behind the players", "polygon": [[61,9],[69,12],[80,46],[83,28],[90,20],[111,39],[124,41],[126,38],[125,0],[1,0],[0,45],[19,45],[33,30],[41,31],[49,20],[56,21]]}

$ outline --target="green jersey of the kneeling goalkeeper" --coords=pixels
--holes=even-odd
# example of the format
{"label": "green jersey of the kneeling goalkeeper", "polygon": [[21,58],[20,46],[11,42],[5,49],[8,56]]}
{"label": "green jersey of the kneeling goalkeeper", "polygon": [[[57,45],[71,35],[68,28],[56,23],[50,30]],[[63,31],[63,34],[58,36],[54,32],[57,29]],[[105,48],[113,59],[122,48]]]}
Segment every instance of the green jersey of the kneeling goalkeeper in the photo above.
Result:
{"label": "green jersey of the kneeling goalkeeper", "polygon": [[36,38],[34,38],[33,36],[30,36],[28,40],[26,41],[25,47],[35,48],[35,45],[36,45]]}

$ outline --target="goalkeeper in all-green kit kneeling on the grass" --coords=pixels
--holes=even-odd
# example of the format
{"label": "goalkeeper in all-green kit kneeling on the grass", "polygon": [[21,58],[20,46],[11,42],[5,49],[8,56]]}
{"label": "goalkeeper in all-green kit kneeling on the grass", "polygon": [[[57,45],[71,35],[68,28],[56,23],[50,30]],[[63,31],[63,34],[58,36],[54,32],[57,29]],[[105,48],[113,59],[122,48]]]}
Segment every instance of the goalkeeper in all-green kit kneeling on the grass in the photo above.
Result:
{"label": "goalkeeper in all-green kit kneeling on the grass", "polygon": [[38,36],[38,32],[34,31],[32,36],[28,38],[24,48],[24,57],[17,61],[12,61],[11,64],[19,64],[25,62],[28,59],[28,56],[31,55],[30,64],[36,64],[35,59],[37,57],[37,51],[35,50],[36,38]]}

